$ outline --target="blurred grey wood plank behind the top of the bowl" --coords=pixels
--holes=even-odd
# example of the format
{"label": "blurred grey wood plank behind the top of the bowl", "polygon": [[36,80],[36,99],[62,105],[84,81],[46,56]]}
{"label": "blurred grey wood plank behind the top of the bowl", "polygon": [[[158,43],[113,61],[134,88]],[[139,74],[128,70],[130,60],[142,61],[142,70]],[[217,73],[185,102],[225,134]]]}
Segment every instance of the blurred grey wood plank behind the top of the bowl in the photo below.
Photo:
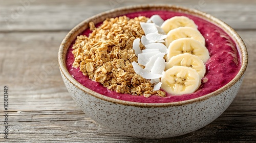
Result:
{"label": "blurred grey wood plank behind the top of the bowl", "polygon": [[[25,3],[27,2],[27,3]],[[112,4],[114,2],[114,4]],[[118,2],[118,3],[117,3]],[[158,4],[158,1],[0,1],[0,32],[4,31],[69,31],[82,20],[97,13],[113,8]],[[161,1],[162,4],[173,4],[195,8],[212,14],[234,29],[256,29],[256,1]]]}

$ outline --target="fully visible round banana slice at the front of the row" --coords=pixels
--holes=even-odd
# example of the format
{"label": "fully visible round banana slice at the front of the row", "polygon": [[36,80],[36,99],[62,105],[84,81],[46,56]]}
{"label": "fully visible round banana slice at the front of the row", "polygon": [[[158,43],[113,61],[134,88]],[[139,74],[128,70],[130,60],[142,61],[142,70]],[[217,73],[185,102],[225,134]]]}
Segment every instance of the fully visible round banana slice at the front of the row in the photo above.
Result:
{"label": "fully visible round banana slice at the front of the row", "polygon": [[188,94],[195,92],[201,85],[197,71],[186,66],[174,66],[167,69],[161,78],[161,88],[170,94]]}

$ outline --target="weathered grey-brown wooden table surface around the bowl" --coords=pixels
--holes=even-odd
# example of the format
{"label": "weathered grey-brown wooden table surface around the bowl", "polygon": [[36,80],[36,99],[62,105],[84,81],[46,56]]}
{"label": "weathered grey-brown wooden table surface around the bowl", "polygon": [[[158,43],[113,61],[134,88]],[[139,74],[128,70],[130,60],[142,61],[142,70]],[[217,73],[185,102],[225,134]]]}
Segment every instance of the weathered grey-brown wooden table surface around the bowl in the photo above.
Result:
{"label": "weathered grey-brown wooden table surface around the bowl", "polygon": [[[117,7],[164,3],[196,8],[228,23],[244,39],[249,64],[238,96],[217,120],[168,139],[112,132],[84,114],[60,77],[61,40],[83,19]],[[255,142],[256,1],[0,0],[0,142]],[[8,109],[4,110],[4,86]],[[8,112],[5,112],[8,111]],[[5,114],[8,113],[8,139]]]}

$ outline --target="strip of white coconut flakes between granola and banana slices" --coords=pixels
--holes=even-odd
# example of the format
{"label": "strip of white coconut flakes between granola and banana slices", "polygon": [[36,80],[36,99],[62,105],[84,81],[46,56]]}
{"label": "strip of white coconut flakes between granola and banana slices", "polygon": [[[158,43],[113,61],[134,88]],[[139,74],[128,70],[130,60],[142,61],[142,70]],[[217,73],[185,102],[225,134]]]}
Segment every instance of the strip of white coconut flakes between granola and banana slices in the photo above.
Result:
{"label": "strip of white coconut flakes between granola and banana slices", "polygon": [[162,73],[165,68],[163,57],[167,52],[167,47],[163,43],[167,35],[160,27],[163,22],[159,15],[153,15],[146,23],[140,22],[140,26],[145,33],[145,36],[141,37],[141,43],[145,46],[145,50],[141,51],[139,38],[133,42],[133,49],[136,56],[138,56],[138,63],[145,66],[143,69],[138,63],[133,62],[132,65],[135,73],[144,79],[151,79],[150,82],[156,84],[154,90],[161,88],[162,83],[160,83],[159,78],[163,76]]}

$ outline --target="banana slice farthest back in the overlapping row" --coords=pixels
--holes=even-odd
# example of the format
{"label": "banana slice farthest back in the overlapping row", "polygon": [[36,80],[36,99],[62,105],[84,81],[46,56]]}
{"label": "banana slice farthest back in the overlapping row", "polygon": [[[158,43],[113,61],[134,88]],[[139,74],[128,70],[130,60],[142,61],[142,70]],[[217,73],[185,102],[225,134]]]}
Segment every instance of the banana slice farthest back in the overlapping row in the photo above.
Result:
{"label": "banana slice farthest back in the overlapping row", "polygon": [[191,27],[197,29],[197,25],[195,24],[195,22],[186,16],[174,16],[165,20],[161,26],[165,33],[168,33],[170,30],[179,27]]}

